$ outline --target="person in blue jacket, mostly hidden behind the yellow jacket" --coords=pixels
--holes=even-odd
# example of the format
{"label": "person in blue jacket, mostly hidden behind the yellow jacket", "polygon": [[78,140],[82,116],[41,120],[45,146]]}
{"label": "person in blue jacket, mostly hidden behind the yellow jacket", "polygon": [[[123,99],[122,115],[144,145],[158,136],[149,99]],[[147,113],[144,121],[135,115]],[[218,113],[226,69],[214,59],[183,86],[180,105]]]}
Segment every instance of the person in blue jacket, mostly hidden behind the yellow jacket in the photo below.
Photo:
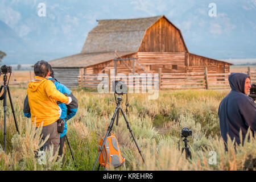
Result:
{"label": "person in blue jacket, mostly hidden behind the yellow jacket", "polygon": [[[61,93],[63,93],[65,96],[71,97],[72,102],[69,105],[65,105],[64,103],[58,103],[59,107],[61,109],[61,115],[60,118],[64,120],[64,131],[63,133],[60,133],[60,148],[59,148],[59,156],[63,154],[63,148],[65,143],[65,135],[67,134],[67,121],[71,119],[77,112],[78,108],[78,102],[75,96],[73,96],[71,90],[67,88],[67,86],[61,84],[59,81],[57,81],[56,78],[54,78],[54,72],[50,66],[51,75],[49,76],[48,80],[51,80],[55,86],[56,89],[59,90]],[[27,118],[31,117],[30,114],[30,106],[28,105],[28,98],[26,97],[24,101],[24,109],[23,113]]]}

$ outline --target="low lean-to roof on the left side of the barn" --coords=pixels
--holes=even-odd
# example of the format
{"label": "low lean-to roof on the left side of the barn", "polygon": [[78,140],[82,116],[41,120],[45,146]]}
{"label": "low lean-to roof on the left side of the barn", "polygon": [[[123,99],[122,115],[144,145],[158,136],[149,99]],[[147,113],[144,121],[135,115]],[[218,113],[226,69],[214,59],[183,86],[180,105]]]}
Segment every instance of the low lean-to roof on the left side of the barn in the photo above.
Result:
{"label": "low lean-to roof on the left side of the barn", "polygon": [[[129,55],[133,52],[117,52],[118,56]],[[97,52],[97,53],[78,53],[67,57],[61,57],[59,59],[51,60],[48,63],[53,68],[84,68],[91,65],[104,63],[106,61],[113,60],[115,52]]]}

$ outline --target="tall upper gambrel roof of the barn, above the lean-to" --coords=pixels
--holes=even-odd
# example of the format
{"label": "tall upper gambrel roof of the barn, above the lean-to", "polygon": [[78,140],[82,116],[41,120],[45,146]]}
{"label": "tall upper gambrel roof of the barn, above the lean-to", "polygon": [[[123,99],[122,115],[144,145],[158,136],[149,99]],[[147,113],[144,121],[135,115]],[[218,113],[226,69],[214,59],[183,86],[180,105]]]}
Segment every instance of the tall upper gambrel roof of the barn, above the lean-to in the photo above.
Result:
{"label": "tall upper gambrel roof of the barn, above the lean-to", "polygon": [[[137,52],[146,30],[162,17],[166,18],[162,15],[149,18],[98,20],[98,25],[88,33],[81,52],[114,52],[115,50]],[[180,32],[178,28],[177,30]]]}

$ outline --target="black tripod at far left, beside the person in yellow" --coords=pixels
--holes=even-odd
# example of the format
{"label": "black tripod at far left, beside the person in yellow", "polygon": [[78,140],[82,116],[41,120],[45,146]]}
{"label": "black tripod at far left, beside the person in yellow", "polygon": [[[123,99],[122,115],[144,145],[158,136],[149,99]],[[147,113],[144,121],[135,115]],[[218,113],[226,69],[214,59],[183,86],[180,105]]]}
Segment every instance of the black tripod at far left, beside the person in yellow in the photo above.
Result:
{"label": "black tripod at far left, beside the person in yellow", "polygon": [[[10,75],[11,77],[11,75]],[[10,80],[9,77],[9,80]],[[16,130],[18,131],[19,134],[19,129],[18,129],[18,125],[17,125],[17,121],[16,121],[16,117],[15,117],[15,112],[14,112],[14,107],[13,107],[13,102],[11,100],[11,93],[10,93],[10,89],[9,89],[9,80],[7,82],[7,73],[4,73],[3,75],[3,85],[0,88],[0,93],[2,92],[3,89],[3,94],[0,97],[0,100],[3,100],[3,125],[4,125],[4,129],[3,129],[3,135],[4,135],[4,140],[5,140],[5,151],[6,151],[6,101],[7,101],[7,92],[9,95],[9,100],[11,103],[11,110],[13,111],[13,117],[14,117],[14,122],[15,122],[15,126],[16,126]]]}

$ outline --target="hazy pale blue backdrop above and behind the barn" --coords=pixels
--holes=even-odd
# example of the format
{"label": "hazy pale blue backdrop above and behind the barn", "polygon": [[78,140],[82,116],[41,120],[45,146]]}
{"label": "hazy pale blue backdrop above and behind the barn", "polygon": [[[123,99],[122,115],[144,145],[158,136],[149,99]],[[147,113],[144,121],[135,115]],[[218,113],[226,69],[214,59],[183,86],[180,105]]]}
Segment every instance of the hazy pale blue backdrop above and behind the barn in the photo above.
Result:
{"label": "hazy pale blue backdrop above and behind the barn", "polygon": [[79,53],[97,19],[156,15],[181,30],[191,53],[256,58],[256,0],[0,0],[0,49],[9,63],[56,59]]}

